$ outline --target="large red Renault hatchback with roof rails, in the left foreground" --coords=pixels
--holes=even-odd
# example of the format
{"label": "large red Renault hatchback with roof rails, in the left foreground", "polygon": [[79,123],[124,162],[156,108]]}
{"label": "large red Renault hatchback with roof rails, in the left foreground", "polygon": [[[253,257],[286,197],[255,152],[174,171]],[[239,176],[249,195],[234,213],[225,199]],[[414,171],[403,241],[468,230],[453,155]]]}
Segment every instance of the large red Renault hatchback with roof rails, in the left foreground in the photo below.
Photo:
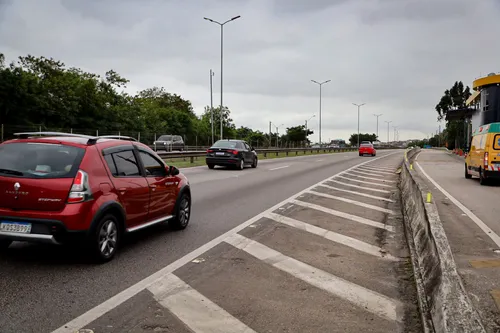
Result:
{"label": "large red Renault hatchback with roof rails, in the left foreground", "polygon": [[18,133],[0,144],[0,250],[13,241],[84,241],[101,262],[122,236],[158,223],[184,229],[189,181],[127,137]]}

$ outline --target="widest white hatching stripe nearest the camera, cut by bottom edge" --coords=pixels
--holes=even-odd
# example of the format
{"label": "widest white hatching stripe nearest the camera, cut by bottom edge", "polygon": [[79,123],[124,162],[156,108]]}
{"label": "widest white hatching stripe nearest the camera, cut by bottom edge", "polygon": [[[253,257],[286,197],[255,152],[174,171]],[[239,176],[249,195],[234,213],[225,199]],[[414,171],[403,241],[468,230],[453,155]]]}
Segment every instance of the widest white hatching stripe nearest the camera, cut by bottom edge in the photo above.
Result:
{"label": "widest white hatching stripe nearest the camera, cut by bottom edge", "polygon": [[148,290],[193,333],[255,332],[173,274],[167,274]]}

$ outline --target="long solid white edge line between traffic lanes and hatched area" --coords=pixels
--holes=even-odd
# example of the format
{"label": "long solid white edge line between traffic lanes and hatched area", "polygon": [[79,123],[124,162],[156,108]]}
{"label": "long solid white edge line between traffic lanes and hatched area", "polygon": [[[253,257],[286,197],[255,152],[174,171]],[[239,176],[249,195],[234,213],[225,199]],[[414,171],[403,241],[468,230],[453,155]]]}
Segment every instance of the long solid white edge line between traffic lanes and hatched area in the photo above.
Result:
{"label": "long solid white edge line between traffic lanes and hatched area", "polygon": [[[377,161],[379,159],[386,158],[388,156],[398,154],[399,152],[394,152],[394,153],[389,153],[380,157],[376,157],[374,159],[370,159],[365,162],[361,162],[360,164],[357,164],[351,168],[348,168],[344,171],[339,172],[337,175],[341,175],[343,173],[346,173],[352,169],[355,169],[361,165],[365,165],[368,163],[372,163],[374,161]],[[243,222],[242,224],[234,227],[233,229],[227,231],[226,233],[216,237],[215,239],[212,239],[208,243],[200,246],[196,250],[186,254],[185,256],[177,259],[173,263],[165,266],[164,268],[160,269],[159,271],[147,276],[146,278],[142,279],[141,281],[137,282],[136,284],[128,287],[127,289],[119,292],[115,296],[109,298],[108,300],[104,301],[103,303],[95,306],[94,308],[88,310],[87,312],[83,313],[82,315],[74,318],[70,322],[64,324],[63,326],[59,327],[58,329],[54,330],[52,333],[74,333],[75,331],[79,330],[80,328],[83,328],[93,322],[94,320],[102,317],[109,311],[113,310],[114,308],[118,307],[119,305],[123,304],[130,298],[134,297],[144,289],[148,288],[150,285],[155,283],[158,279],[163,278],[165,275],[172,273],[173,271],[179,269],[180,267],[184,266],[185,264],[189,263],[190,261],[200,257],[202,254],[207,252],[208,250],[214,248],[218,244],[222,243],[227,237],[230,237],[231,235],[236,234],[240,230],[245,229],[249,225],[252,225],[253,223],[257,222],[259,219],[265,217],[265,215],[269,212],[273,212],[276,209],[280,208],[281,206],[290,203],[290,200],[297,198],[304,193],[307,193],[309,190],[317,187],[318,185],[323,184],[324,182],[329,181],[329,179],[322,180],[314,185],[311,185],[310,187],[292,195],[288,199],[285,199],[276,205],[270,207],[269,209],[255,215],[251,219],[247,220],[246,222]],[[381,191],[381,190],[379,190]],[[387,192],[387,191],[384,191]],[[389,192],[388,192],[389,193]]]}

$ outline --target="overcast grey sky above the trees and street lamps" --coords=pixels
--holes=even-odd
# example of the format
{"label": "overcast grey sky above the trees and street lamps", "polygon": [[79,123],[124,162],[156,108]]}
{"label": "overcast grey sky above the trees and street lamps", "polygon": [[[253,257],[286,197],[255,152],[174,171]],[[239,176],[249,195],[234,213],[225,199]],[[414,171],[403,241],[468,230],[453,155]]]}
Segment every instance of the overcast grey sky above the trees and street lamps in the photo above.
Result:
{"label": "overcast grey sky above the trees and street lamps", "polygon": [[[163,86],[200,114],[224,104],[237,126],[268,131],[309,122],[318,140],[347,139],[387,124],[401,139],[438,129],[434,106],[454,81],[500,71],[500,0],[0,0],[0,52],[54,57],[104,74],[128,91]],[[280,130],[283,132],[283,129]]]}

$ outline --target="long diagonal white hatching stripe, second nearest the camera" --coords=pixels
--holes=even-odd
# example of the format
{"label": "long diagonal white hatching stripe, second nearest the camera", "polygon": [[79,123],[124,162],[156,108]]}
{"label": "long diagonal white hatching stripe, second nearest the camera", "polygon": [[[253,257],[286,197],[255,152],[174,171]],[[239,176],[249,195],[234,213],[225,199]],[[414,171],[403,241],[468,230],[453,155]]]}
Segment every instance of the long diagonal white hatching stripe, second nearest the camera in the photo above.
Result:
{"label": "long diagonal white hatching stripe, second nearest the camera", "polygon": [[225,242],[304,282],[356,304],[377,316],[393,321],[401,320],[397,315],[397,309],[401,307],[401,304],[397,300],[288,257],[239,234],[226,238]]}

